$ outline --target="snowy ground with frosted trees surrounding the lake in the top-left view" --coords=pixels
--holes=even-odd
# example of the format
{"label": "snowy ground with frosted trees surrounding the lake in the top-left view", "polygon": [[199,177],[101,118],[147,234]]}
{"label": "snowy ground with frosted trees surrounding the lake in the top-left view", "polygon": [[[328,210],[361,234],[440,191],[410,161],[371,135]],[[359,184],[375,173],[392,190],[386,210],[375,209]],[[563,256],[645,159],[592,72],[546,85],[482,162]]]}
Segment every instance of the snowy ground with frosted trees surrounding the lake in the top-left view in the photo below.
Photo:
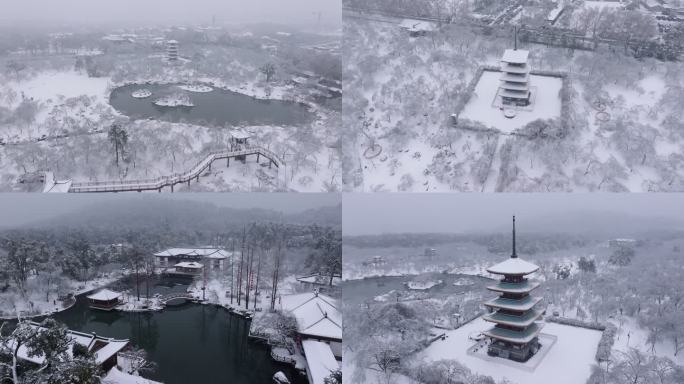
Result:
{"label": "snowy ground with frosted trees surrounding the lake in the top-left view", "polygon": [[[206,52],[207,55],[213,52]],[[245,54],[243,51],[240,53]],[[259,53],[261,54],[261,53]],[[288,167],[275,170],[234,162],[231,169],[201,177],[199,184],[179,189],[192,191],[320,192],[340,188],[340,153],[335,132],[339,111],[321,105],[284,79],[266,83],[258,67],[250,63],[250,52],[242,62],[230,56],[230,77],[217,75],[216,68],[168,67],[158,58],[145,55],[118,56],[107,60],[118,67],[109,76],[89,77],[73,69],[73,63],[53,63],[50,56],[37,68],[19,75],[0,75],[0,113],[7,108],[14,116],[0,123],[0,190],[40,191],[22,183],[24,177],[51,170],[59,180],[74,182],[119,179],[150,179],[168,176],[199,161],[208,151],[225,149],[226,127],[167,123],[156,120],[130,121],[108,103],[115,85],[144,82],[211,84],[258,99],[305,102],[314,120],[303,126],[244,126],[254,133],[253,143],[276,152]],[[122,60],[128,60],[125,63]],[[214,58],[216,60],[216,58]],[[49,68],[49,69],[45,69]],[[188,86],[207,91],[208,86]],[[175,105],[175,104],[174,104]],[[22,108],[19,110],[19,108]],[[10,113],[8,112],[8,113]],[[115,164],[114,146],[107,134],[112,124],[128,133],[125,164]],[[271,182],[274,177],[287,185]]]}

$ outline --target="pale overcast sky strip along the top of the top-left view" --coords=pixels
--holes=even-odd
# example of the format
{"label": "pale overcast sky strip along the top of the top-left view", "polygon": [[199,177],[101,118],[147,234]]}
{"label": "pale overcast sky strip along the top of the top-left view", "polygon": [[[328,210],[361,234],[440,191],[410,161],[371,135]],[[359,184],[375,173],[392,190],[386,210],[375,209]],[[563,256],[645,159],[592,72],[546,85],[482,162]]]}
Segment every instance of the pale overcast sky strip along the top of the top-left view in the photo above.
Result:
{"label": "pale overcast sky strip along the top of the top-left view", "polygon": [[340,24],[341,0],[2,0],[0,21]]}

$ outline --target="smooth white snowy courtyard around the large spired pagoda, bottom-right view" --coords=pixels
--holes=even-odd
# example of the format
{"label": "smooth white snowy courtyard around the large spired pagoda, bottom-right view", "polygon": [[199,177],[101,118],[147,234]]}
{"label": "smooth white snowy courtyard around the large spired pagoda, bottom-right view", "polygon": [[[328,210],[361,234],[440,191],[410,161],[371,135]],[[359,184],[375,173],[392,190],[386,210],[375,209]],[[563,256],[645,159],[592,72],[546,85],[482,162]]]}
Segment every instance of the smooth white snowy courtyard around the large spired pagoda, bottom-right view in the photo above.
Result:
{"label": "smooth white snowy courtyard around the large spired pagoda, bottom-right view", "polygon": [[601,332],[546,323],[542,332],[557,336],[558,339],[536,369],[529,371],[525,367],[499,364],[467,353],[474,344],[468,335],[491,326],[491,323],[478,318],[461,328],[447,331],[446,340],[435,341],[416,358],[425,362],[457,360],[474,372],[492,376],[496,380],[507,378],[516,384],[578,384],[589,378]]}

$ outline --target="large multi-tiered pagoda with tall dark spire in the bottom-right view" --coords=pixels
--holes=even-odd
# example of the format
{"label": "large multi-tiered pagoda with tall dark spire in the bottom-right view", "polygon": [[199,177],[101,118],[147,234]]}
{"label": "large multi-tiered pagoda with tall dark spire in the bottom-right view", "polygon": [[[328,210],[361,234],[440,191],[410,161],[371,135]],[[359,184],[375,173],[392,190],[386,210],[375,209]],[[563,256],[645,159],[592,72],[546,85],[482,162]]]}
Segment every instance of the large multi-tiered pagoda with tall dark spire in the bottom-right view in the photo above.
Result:
{"label": "large multi-tiered pagoda with tall dark spire in the bottom-right view", "polygon": [[537,270],[538,266],[518,258],[513,216],[513,253],[508,260],[487,269],[489,273],[503,276],[498,283],[487,287],[498,292],[499,297],[484,303],[491,312],[482,318],[494,323],[494,327],[483,332],[491,341],[487,350],[490,356],[524,362],[539,350],[538,336],[542,325],[535,321],[542,311],[535,306],[542,298],[530,296],[539,283],[525,277]]}

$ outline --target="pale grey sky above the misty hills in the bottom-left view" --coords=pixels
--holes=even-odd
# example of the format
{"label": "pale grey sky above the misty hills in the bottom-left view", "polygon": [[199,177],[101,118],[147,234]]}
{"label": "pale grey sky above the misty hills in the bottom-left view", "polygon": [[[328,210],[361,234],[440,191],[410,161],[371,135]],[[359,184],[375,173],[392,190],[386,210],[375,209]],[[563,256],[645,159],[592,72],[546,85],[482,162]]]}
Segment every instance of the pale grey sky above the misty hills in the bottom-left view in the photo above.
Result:
{"label": "pale grey sky above the misty hills in the bottom-left view", "polygon": [[296,213],[336,206],[335,193],[175,193],[175,194],[41,194],[0,193],[0,227],[18,226],[69,213],[108,200],[164,198],[214,203],[232,208],[275,209]]}

